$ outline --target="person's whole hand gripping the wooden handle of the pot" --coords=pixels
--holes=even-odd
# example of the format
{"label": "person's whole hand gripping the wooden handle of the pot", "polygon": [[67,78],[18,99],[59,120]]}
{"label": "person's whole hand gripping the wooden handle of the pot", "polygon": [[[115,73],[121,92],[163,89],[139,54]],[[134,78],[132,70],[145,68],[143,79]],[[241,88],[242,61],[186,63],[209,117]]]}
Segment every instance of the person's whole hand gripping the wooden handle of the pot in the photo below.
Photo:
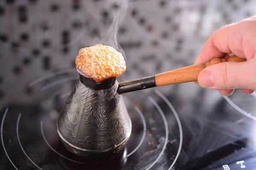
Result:
{"label": "person's whole hand gripping the wooden handle of the pot", "polygon": [[207,40],[195,64],[206,63],[215,57],[236,55],[245,62],[221,62],[208,66],[198,75],[203,88],[218,89],[229,96],[235,88],[252,94],[256,90],[256,17],[225,26],[215,31]]}

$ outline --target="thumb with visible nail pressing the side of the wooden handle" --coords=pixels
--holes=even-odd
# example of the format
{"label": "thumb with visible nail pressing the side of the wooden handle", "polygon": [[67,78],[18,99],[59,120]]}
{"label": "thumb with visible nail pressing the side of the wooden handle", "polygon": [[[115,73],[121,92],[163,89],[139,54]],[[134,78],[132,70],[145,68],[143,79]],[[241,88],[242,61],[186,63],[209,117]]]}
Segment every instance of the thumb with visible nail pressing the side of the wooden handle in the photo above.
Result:
{"label": "thumb with visible nail pressing the side of the wooden handle", "polygon": [[198,75],[203,88],[227,90],[247,88],[256,90],[256,62],[221,62],[210,65]]}

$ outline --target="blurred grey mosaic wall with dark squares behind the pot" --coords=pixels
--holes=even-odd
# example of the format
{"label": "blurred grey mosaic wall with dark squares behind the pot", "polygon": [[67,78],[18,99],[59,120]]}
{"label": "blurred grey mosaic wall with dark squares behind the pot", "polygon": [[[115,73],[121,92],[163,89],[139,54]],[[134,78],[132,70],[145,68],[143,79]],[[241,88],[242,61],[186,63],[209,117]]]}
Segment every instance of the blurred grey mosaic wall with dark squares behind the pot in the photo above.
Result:
{"label": "blurred grey mosaic wall with dark squares behind the pot", "polygon": [[[253,0],[1,0],[1,107],[38,102],[40,85],[30,83],[74,68],[79,49],[97,43],[123,49],[127,70],[119,81],[192,65],[214,31],[254,15],[255,7]],[[70,82],[61,84],[67,92]],[[188,95],[201,90],[178,86]],[[171,95],[175,87],[161,89]]]}

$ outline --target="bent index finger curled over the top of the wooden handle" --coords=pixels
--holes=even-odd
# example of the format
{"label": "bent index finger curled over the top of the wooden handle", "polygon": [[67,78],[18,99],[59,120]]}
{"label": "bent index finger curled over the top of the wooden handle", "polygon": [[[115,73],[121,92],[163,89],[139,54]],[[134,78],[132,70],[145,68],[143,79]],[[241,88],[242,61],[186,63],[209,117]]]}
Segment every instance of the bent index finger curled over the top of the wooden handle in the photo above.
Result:
{"label": "bent index finger curled over the top of the wooden handle", "polygon": [[[215,31],[207,40],[195,64],[206,63],[215,57],[233,53],[238,57],[250,60],[255,55],[256,20],[243,20]],[[246,30],[246,31],[244,31]]]}

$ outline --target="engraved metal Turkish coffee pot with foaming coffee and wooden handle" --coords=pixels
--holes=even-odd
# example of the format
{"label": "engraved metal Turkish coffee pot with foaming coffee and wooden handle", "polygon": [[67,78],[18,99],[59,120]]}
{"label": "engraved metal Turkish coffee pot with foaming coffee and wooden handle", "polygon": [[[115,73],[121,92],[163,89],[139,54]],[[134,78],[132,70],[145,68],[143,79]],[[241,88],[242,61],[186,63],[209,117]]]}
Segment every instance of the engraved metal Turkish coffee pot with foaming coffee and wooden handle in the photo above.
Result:
{"label": "engraved metal Turkish coffee pot with foaming coffee and wooden handle", "polygon": [[76,57],[79,79],[59,113],[57,132],[64,146],[79,156],[118,153],[131,135],[131,119],[123,93],[164,85],[195,82],[207,66],[243,62],[232,56],[214,58],[140,79],[117,82],[126,69],[122,54],[107,45],[82,48]]}

